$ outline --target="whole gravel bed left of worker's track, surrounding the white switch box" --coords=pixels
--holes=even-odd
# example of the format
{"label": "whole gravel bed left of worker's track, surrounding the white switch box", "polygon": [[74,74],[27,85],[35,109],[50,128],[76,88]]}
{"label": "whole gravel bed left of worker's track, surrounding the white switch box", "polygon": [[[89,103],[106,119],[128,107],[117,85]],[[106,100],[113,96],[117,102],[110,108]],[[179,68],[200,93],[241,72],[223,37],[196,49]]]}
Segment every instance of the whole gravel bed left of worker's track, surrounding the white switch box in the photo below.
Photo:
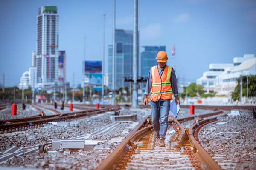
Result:
{"label": "whole gravel bed left of worker's track, surrounding the white switch box", "polygon": [[[120,111],[121,114],[131,114],[127,110]],[[27,147],[36,144],[48,143],[49,139],[67,139],[70,137],[87,135],[93,133],[102,127],[110,125],[110,114],[99,114],[96,116],[85,117],[84,119],[74,120],[79,122],[79,128],[75,127],[43,127],[32,130],[26,130],[23,133],[13,136],[3,135],[0,137],[1,144],[0,152],[14,145],[17,147]],[[141,120],[141,119],[140,119]],[[92,170],[95,169],[102,160],[104,160],[118,144],[136,127],[140,122],[120,123],[115,129],[108,133],[90,136],[89,140],[104,140],[103,145],[109,145],[110,150],[94,150],[78,152],[65,151],[64,153],[38,154],[32,153],[26,156],[13,158],[8,160],[3,167],[24,167],[24,168],[40,168],[49,170]],[[10,133],[11,134],[11,133]],[[35,137],[35,139],[33,137]]]}

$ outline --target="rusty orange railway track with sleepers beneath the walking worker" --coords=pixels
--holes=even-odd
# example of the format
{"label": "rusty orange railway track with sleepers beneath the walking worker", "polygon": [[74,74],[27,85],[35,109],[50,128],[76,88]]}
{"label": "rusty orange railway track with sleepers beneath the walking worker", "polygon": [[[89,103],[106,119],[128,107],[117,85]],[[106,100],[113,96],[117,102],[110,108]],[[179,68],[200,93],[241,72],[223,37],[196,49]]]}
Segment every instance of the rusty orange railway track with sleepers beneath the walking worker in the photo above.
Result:
{"label": "rusty orange railway track with sleepers beneath the walking worker", "polygon": [[158,168],[220,170],[221,167],[199,143],[197,133],[204,125],[216,121],[217,118],[213,116],[221,113],[223,112],[218,111],[183,119],[172,117],[172,120],[169,120],[171,126],[166,133],[166,147],[155,145],[156,133],[151,121],[145,119],[99,164],[96,170]]}

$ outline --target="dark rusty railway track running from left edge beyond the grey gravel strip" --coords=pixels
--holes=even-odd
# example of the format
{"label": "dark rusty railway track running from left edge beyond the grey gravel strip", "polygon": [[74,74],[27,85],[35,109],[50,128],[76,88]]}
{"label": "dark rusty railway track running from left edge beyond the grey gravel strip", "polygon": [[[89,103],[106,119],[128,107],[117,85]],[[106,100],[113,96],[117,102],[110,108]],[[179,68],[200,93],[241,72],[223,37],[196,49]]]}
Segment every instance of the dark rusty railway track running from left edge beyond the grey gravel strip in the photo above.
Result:
{"label": "dark rusty railway track running from left edge beyond the grey gravel strip", "polygon": [[119,107],[108,107],[103,109],[87,109],[83,111],[75,111],[70,113],[60,113],[54,109],[46,108],[43,106],[40,106],[40,107],[44,109],[52,110],[56,114],[44,115],[44,116],[41,116],[41,114],[39,114],[38,116],[0,120],[0,134],[12,133],[15,131],[26,130],[28,128],[33,128],[33,127],[41,127],[43,126],[43,124],[47,124],[47,122],[67,121],[70,119],[77,119],[84,116],[104,113],[106,111],[116,111],[120,109]]}

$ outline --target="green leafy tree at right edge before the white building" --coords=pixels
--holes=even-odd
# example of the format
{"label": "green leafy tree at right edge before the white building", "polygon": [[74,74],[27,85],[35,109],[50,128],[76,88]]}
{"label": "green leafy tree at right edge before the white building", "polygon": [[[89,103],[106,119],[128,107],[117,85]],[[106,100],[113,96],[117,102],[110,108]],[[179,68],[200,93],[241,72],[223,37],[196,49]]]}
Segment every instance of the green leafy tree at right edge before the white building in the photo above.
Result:
{"label": "green leafy tree at right edge before the white building", "polygon": [[[243,77],[243,96],[247,96],[247,76]],[[240,78],[236,79],[236,88],[231,93],[233,100],[239,100],[239,85]],[[256,75],[248,76],[248,96],[255,97],[256,96]]]}

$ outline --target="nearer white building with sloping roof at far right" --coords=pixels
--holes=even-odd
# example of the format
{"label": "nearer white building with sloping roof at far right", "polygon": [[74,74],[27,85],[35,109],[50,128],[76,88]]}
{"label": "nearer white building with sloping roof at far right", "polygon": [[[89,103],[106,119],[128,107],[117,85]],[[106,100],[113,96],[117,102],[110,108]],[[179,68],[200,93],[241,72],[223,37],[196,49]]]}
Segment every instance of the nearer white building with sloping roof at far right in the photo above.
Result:
{"label": "nearer white building with sloping roof at far right", "polygon": [[235,68],[227,69],[223,74],[218,75],[215,87],[217,95],[230,96],[230,93],[233,92],[237,86],[237,78],[256,75],[256,58],[254,58],[254,54],[244,54],[244,60],[245,61]]}

